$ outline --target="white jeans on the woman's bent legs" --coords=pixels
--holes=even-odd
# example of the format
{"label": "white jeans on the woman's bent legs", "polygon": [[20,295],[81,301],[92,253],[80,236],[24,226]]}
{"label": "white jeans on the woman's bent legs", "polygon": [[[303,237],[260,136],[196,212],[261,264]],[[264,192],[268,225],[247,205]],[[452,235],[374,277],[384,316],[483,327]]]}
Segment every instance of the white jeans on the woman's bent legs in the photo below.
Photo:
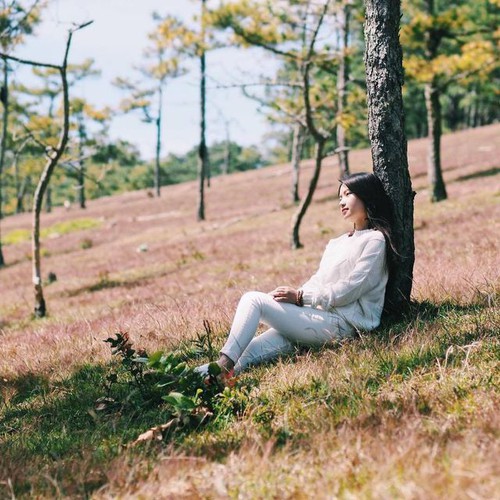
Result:
{"label": "white jeans on the woman's bent legs", "polygon": [[[260,322],[271,328],[255,336]],[[288,354],[297,344],[322,346],[348,337],[353,331],[335,313],[276,302],[267,293],[247,292],[238,304],[221,353],[234,361],[235,372],[239,373],[248,365]]]}

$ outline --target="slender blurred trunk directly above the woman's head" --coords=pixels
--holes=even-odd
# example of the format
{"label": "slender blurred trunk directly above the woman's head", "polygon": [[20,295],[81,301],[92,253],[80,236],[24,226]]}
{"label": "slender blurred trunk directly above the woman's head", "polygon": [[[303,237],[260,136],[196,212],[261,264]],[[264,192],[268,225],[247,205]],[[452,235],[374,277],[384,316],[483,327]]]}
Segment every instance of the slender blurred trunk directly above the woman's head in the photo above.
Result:
{"label": "slender blurred trunk directly above the woman's head", "polygon": [[[347,104],[346,85],[349,81],[349,59],[347,49],[349,48],[349,4],[344,4],[342,9],[343,22],[340,23],[341,56],[339,70],[337,73],[337,115],[342,117]],[[347,146],[345,128],[341,122],[337,123],[337,147],[339,158],[339,175],[342,179],[349,175],[349,148]]]}

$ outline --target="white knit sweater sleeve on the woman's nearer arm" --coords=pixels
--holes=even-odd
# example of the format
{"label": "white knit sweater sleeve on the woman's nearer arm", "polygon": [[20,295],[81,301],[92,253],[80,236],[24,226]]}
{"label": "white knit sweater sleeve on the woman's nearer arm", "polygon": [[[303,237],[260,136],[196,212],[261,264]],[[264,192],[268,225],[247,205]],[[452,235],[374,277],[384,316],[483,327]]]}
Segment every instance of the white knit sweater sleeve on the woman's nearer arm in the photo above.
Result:
{"label": "white knit sweater sleeve on the woman's nearer arm", "polygon": [[326,283],[317,289],[304,289],[305,305],[324,310],[345,306],[358,300],[374,288],[385,270],[385,240],[369,241],[349,274],[335,283]]}

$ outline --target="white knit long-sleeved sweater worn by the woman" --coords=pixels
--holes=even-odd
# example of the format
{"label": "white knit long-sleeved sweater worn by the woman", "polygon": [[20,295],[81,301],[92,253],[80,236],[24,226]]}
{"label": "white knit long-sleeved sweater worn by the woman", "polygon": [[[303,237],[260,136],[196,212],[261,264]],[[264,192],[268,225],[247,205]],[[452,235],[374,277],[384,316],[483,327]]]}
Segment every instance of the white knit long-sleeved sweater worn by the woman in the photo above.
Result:
{"label": "white knit long-sleeved sweater worn by the woman", "polygon": [[304,305],[338,314],[355,329],[376,328],[388,279],[385,247],[373,229],[330,240],[318,271],[301,287]]}

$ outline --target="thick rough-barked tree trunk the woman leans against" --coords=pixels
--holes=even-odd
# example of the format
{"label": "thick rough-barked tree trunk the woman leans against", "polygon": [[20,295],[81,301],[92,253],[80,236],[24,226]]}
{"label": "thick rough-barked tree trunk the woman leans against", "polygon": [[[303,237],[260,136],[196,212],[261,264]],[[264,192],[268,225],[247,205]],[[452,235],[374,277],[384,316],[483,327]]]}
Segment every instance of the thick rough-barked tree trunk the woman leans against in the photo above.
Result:
{"label": "thick rough-barked tree trunk the woman leans against", "polygon": [[373,169],[394,205],[398,265],[386,291],[386,309],[401,312],[410,301],[415,246],[413,197],[404,133],[400,0],[365,0],[365,70],[368,133]]}

